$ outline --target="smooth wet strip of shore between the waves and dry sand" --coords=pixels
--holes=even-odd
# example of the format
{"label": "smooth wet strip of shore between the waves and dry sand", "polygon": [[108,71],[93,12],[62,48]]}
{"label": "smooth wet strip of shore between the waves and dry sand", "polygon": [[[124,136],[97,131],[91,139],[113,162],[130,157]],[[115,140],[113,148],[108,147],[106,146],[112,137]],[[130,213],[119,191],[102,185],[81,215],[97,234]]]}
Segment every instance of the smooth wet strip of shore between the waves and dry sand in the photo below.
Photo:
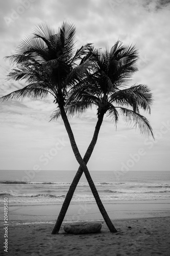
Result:
{"label": "smooth wet strip of shore between the waves and dry sand", "polygon": [[[170,216],[169,200],[104,202],[104,206],[111,220]],[[26,206],[9,204],[9,222],[55,222],[61,207],[62,204]],[[3,206],[0,207],[1,212],[3,212],[3,208]],[[64,222],[88,220],[103,220],[96,203],[69,205]],[[3,215],[1,215],[0,221],[3,222]]]}

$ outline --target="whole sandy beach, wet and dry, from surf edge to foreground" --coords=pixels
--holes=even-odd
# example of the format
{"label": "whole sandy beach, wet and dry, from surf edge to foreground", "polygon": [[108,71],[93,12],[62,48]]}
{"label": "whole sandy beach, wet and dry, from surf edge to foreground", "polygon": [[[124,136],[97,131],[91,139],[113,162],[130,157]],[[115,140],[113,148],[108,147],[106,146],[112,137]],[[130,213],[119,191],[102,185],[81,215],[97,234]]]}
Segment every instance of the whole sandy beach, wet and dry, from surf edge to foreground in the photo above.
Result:
{"label": "whole sandy beach, wet and dry, from surf edge to foreground", "polygon": [[[69,206],[65,222],[100,220],[102,229],[94,234],[52,235],[61,205],[10,206],[8,253],[3,249],[4,223],[1,221],[1,255],[170,255],[169,203],[122,202],[106,204],[117,233],[110,233],[95,204]],[[84,210],[84,214],[83,214]],[[98,212],[98,213],[97,213]],[[3,241],[4,240],[4,241]]]}

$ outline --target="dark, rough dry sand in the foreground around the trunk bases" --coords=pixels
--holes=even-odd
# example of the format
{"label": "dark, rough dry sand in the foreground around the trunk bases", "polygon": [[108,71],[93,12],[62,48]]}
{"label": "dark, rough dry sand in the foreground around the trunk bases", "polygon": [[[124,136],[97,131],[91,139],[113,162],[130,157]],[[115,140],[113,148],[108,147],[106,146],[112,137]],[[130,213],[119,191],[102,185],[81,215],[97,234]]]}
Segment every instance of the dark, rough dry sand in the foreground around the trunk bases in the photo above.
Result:
{"label": "dark, rough dry sand in the foreground around the trunk bases", "polygon": [[1,255],[170,255],[170,217],[114,220],[117,233],[100,222],[100,233],[81,235],[66,234],[63,225],[55,235],[49,223],[11,225],[8,253],[2,250],[1,239]]}

